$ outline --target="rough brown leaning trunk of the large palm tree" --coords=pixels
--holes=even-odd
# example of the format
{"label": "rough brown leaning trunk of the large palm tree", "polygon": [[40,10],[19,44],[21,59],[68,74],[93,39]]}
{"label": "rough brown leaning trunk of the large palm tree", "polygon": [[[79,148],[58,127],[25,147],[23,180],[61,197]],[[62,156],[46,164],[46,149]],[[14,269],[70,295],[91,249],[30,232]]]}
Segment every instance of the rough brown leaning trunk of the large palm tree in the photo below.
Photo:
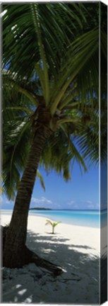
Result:
{"label": "rough brown leaning trunk of the large palm tree", "polygon": [[49,114],[46,115],[44,111],[39,112],[36,126],[34,126],[28,162],[18,186],[13,215],[6,234],[3,263],[10,268],[23,266],[28,261],[27,251],[25,251],[28,211],[42,149],[51,133],[49,121]]}

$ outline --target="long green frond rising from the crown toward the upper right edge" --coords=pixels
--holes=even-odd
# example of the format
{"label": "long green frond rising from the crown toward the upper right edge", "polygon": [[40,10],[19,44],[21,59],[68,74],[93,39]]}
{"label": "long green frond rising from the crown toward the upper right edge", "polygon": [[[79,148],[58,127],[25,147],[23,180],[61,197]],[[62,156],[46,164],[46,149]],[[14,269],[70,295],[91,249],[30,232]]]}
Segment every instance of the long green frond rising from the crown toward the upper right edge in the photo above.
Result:
{"label": "long green frond rising from the crown toward the upper right edge", "polygon": [[[90,33],[83,34],[80,38],[77,38],[71,44],[71,51],[69,50],[68,60],[64,67],[61,69],[60,79],[58,81],[58,87],[56,91],[52,91],[52,105],[51,113],[55,113],[56,108],[61,102],[61,98],[66,93],[68,86],[72,81],[78,76],[82,69],[84,69],[85,64],[87,64],[90,59],[95,54],[96,50],[98,52],[99,47],[99,30],[91,30]],[[98,61],[97,61],[98,62]],[[90,72],[89,72],[90,74]],[[89,88],[92,91],[91,79],[89,81]],[[85,88],[86,90],[86,88]],[[94,90],[94,88],[93,88]]]}

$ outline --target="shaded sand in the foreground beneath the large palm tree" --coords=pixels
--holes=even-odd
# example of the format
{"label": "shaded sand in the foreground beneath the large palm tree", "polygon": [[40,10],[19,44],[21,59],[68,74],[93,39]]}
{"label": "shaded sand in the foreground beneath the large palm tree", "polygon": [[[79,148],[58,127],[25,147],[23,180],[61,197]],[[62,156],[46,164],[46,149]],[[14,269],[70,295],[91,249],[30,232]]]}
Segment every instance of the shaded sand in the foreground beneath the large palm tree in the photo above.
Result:
{"label": "shaded sand in the foreground beneath the large palm tree", "polygon": [[[81,252],[80,249],[88,250],[89,246],[69,244],[68,240],[28,231],[28,247],[42,258],[61,266],[63,273],[54,277],[40,267],[39,274],[28,266],[10,269],[16,273],[10,273],[12,276],[4,280],[2,302],[100,304],[100,259],[92,256],[92,250],[89,254]],[[105,261],[102,266],[105,271]],[[107,297],[107,278],[103,281],[101,293]]]}

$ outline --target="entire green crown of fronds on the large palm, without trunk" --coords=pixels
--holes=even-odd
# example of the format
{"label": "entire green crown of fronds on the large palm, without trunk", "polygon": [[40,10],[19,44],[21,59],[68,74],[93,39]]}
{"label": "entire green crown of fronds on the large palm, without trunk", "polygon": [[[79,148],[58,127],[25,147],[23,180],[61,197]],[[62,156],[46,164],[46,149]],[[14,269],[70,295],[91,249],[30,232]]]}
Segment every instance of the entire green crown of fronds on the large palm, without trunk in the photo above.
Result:
{"label": "entire green crown of fronds on the large palm, without trunk", "polygon": [[[14,198],[25,169],[40,107],[52,117],[40,166],[68,181],[75,161],[81,171],[99,161],[98,4],[93,8],[95,17],[92,4],[3,5],[3,66],[9,68],[3,71],[2,177],[8,198]],[[104,75],[104,30],[101,39]],[[104,141],[102,152],[104,160]],[[42,176],[40,181],[44,188]]]}

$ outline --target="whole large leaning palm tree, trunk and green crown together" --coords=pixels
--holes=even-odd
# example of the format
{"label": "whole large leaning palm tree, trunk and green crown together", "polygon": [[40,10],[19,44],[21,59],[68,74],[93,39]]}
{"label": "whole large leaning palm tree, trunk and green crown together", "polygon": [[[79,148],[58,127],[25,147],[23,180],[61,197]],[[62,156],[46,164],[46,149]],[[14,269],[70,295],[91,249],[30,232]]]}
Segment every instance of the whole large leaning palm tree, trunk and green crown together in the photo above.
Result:
{"label": "whole large leaning palm tree, trunk and green crown together", "polygon": [[[29,261],[35,261],[37,265],[47,266],[51,271],[59,273],[60,270],[55,268],[52,263],[47,263],[47,261],[40,259],[25,246],[28,210],[39,164],[44,163],[47,171],[51,168],[56,168],[59,172],[64,171],[64,176],[67,178],[69,176],[68,165],[71,161],[73,164],[75,157],[85,168],[83,158],[76,149],[75,140],[78,140],[83,156],[85,158],[88,157],[91,162],[97,162],[99,30],[98,28],[93,28],[82,34],[80,31],[79,35],[71,42],[69,34],[66,36],[66,29],[64,33],[64,25],[62,32],[60,27],[61,13],[63,13],[64,8],[68,12],[68,5],[61,6],[61,4],[57,4],[55,10],[52,4],[42,6],[29,4],[16,7],[6,5],[4,7],[7,11],[4,15],[3,61],[4,65],[8,62],[10,64],[9,70],[4,76],[4,82],[6,84],[9,82],[11,96],[15,91],[18,95],[18,100],[20,97],[19,109],[15,101],[13,101],[13,104],[11,103],[11,106],[8,106],[7,99],[4,108],[4,113],[6,111],[7,116],[10,111],[12,114],[16,113],[16,116],[18,112],[20,114],[19,125],[18,122],[15,123],[15,115],[12,120],[8,120],[8,125],[6,124],[7,130],[9,128],[11,130],[10,135],[13,137],[14,142],[11,157],[11,174],[14,172],[18,192],[11,223],[6,235],[4,265],[20,267]],[[79,13],[79,7],[77,8]],[[56,32],[53,33],[54,35],[56,33],[56,40],[53,36],[51,39],[52,26],[49,25],[47,16],[44,17],[44,10],[47,10],[46,13],[48,14],[52,13],[52,24],[56,28]],[[55,16],[54,11],[56,12]],[[68,18],[68,33],[69,30],[71,32],[71,20],[73,20],[73,23],[74,20],[77,20],[75,6],[73,11],[69,7],[69,12],[70,18],[68,13],[64,15]],[[82,15],[82,11],[80,12]],[[32,16],[32,28],[30,16]],[[57,25],[56,20],[58,19],[55,19],[55,17],[59,18],[59,24],[57,23]],[[21,27],[23,25],[23,28],[20,25]],[[13,30],[11,31],[12,28]],[[34,35],[37,40],[35,39],[34,42],[33,39],[32,42],[30,38],[34,37]],[[63,40],[64,44],[62,43]],[[12,42],[14,43],[12,44]],[[11,49],[8,48],[10,50],[9,54],[7,52],[8,45],[12,46]],[[32,45],[34,47],[33,52]],[[56,50],[58,50],[59,55],[56,54]],[[16,56],[13,55],[13,52]],[[17,60],[19,55],[21,66]],[[59,58],[60,55],[61,58]],[[27,60],[28,62],[30,60],[29,65]],[[26,109],[22,108],[24,104]],[[24,114],[25,118],[22,117]],[[89,135],[90,137],[93,136],[90,146],[88,144]],[[19,183],[17,171],[19,160],[16,158],[16,163],[14,164],[13,159],[16,155],[16,148],[18,149],[22,139],[24,144],[26,140],[29,141],[27,143],[28,149],[24,149],[20,162],[22,170],[24,156],[27,157],[24,162],[23,176]],[[17,143],[16,140],[18,140]],[[9,142],[9,138],[7,142]],[[62,154],[61,148],[64,148]],[[48,154],[50,158],[48,158]],[[6,152],[4,152],[4,160],[7,162]],[[8,173],[10,174],[10,171]],[[6,179],[7,174],[4,172],[5,183]]]}

